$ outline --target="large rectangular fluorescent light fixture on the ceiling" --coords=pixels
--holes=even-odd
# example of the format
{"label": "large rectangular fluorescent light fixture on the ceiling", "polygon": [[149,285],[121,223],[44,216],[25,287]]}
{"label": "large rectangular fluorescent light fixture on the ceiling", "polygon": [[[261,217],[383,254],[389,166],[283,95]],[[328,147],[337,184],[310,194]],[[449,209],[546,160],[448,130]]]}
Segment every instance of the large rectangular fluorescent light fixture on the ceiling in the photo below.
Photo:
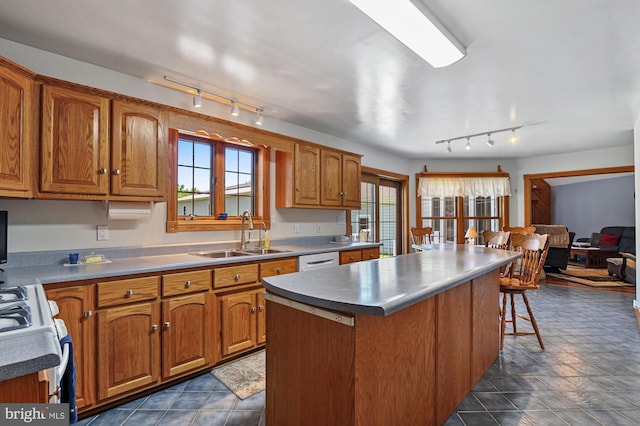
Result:
{"label": "large rectangular fluorescent light fixture on the ceiling", "polygon": [[451,65],[467,54],[420,0],[349,1],[434,68]]}

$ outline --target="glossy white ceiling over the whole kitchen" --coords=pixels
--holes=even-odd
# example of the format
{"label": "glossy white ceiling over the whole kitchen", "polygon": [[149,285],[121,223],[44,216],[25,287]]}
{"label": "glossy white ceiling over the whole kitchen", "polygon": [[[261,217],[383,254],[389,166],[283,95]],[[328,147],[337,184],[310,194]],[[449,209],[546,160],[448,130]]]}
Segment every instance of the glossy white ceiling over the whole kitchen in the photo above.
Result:
{"label": "glossy white ceiling over the whole kitchen", "polygon": [[[270,117],[408,158],[633,144],[640,1],[422,0],[467,48],[434,69],[347,0],[3,0],[0,38],[143,79],[169,75]],[[0,52],[0,55],[2,52]],[[186,95],[185,95],[186,96]],[[525,125],[509,133],[440,139]]]}

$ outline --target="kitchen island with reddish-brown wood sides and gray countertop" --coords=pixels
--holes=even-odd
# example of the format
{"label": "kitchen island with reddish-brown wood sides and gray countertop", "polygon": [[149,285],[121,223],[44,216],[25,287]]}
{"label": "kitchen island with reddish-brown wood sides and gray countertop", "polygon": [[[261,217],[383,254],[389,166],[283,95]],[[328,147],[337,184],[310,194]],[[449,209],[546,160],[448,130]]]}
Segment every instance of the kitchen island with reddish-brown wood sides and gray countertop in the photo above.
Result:
{"label": "kitchen island with reddish-brown wood sides and gray countertop", "polygon": [[267,424],[442,424],[499,352],[499,268],[435,245],[263,279]]}

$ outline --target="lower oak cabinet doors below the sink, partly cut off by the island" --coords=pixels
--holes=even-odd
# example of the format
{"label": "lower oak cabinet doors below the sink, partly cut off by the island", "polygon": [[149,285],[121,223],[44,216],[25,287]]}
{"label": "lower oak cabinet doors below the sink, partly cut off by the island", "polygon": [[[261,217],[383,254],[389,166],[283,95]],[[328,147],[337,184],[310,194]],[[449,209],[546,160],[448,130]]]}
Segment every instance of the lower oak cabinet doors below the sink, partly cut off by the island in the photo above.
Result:
{"label": "lower oak cabinet doors below the sink, partly cut off by the island", "polygon": [[220,297],[222,357],[237,355],[264,343],[264,289],[251,289]]}

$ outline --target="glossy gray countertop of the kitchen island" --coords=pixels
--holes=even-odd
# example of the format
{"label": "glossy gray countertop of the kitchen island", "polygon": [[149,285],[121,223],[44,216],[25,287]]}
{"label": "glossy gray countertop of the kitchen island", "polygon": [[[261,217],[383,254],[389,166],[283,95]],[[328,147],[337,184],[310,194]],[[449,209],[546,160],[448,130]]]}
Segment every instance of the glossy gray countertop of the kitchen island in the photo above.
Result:
{"label": "glossy gray countertop of the kitchen island", "polygon": [[431,250],[263,279],[269,293],[307,305],[389,315],[520,257],[470,245]]}

